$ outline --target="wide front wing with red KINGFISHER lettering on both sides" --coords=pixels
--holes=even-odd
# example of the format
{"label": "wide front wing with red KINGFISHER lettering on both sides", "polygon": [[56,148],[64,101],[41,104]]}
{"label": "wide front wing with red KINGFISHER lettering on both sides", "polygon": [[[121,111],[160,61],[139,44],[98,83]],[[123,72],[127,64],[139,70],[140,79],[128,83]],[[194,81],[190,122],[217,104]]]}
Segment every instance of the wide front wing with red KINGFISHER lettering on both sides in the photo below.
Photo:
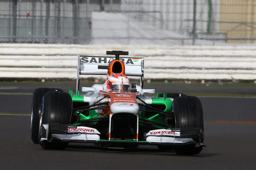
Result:
{"label": "wide front wing with red KINGFISHER lettering on both sides", "polygon": [[170,128],[152,130],[144,135],[145,140],[102,140],[97,129],[61,124],[42,124],[40,141],[63,141],[76,143],[137,143],[151,145],[203,145],[199,128]]}

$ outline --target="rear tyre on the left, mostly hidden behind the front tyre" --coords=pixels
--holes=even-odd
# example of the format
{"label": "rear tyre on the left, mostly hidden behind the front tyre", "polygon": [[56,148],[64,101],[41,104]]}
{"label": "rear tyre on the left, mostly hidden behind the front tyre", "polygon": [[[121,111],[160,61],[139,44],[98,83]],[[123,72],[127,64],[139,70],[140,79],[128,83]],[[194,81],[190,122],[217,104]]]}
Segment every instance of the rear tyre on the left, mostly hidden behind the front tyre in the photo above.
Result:
{"label": "rear tyre on the left, mostly hidden behind the front tyre", "polygon": [[34,143],[38,143],[39,114],[41,111],[42,96],[44,96],[45,93],[47,93],[48,91],[62,91],[62,90],[57,88],[37,88],[33,92],[30,136]]}

